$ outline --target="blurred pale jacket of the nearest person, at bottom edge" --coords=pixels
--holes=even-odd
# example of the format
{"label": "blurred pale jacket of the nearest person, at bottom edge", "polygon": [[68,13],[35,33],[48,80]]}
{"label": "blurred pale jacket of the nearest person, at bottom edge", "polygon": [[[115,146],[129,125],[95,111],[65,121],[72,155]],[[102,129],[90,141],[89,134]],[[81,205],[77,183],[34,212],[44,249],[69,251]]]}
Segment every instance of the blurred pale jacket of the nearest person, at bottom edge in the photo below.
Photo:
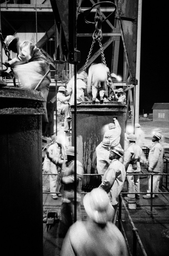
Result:
{"label": "blurred pale jacket of the nearest person, at bottom edge", "polygon": [[128,256],[119,229],[111,222],[101,227],[90,219],[76,221],[64,238],[60,256]]}

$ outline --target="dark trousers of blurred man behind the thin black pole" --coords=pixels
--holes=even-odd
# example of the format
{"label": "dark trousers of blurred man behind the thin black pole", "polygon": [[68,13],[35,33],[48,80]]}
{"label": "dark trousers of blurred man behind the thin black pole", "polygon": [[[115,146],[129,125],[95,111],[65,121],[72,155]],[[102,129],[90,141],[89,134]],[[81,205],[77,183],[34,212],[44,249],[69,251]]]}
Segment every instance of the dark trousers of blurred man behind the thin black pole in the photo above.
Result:
{"label": "dark trousers of blurred man behind the thin black pole", "polygon": [[[69,227],[74,223],[74,202],[62,203],[61,205],[61,232],[66,234]],[[77,202],[77,220],[82,219],[81,203]]]}

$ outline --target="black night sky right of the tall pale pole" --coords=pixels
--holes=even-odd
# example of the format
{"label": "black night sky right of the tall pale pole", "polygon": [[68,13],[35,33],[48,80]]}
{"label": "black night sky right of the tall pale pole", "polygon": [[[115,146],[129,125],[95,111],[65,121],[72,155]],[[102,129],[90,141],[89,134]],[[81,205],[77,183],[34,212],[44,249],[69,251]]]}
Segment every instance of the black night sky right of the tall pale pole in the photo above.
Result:
{"label": "black night sky right of the tall pale pole", "polygon": [[140,112],[169,102],[168,1],[142,1]]}

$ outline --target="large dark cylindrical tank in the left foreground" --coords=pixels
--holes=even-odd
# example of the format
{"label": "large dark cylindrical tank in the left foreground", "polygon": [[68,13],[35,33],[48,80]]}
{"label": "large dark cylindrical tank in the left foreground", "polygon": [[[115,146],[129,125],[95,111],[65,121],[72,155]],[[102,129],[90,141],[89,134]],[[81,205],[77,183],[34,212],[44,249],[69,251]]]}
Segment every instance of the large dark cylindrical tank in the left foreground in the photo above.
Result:
{"label": "large dark cylindrical tank in the left foreground", "polygon": [[41,92],[0,89],[0,221],[4,255],[43,255]]}

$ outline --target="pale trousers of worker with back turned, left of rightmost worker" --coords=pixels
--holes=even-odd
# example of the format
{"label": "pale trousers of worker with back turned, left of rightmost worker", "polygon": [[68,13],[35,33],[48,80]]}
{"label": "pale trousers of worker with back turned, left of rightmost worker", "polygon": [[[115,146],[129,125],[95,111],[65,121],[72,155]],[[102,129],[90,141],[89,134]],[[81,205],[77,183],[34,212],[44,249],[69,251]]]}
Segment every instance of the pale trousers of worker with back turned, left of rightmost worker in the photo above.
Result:
{"label": "pale trousers of worker with back turned, left of rightmost worker", "polygon": [[[127,172],[127,174],[137,174],[137,175],[126,175],[127,177],[127,192],[136,193],[139,195],[140,192],[140,172]],[[135,198],[135,194],[127,194],[128,197]]]}

